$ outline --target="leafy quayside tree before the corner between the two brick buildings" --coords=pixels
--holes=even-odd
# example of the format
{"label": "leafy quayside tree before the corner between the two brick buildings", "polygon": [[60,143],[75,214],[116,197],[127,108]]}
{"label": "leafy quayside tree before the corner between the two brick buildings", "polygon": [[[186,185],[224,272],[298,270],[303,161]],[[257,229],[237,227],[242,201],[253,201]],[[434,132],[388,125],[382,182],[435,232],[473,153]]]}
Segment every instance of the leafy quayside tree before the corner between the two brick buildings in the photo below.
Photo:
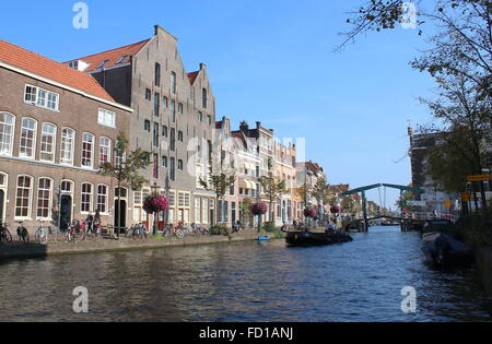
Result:
{"label": "leafy quayside tree before the corner between the two brick buildings", "polygon": [[[121,188],[127,187],[132,190],[139,190],[143,185],[149,183],[149,180],[140,176],[140,170],[145,169],[150,165],[150,153],[144,152],[141,149],[137,149],[133,152],[129,151],[129,141],[125,132],[118,134],[114,155],[115,164],[104,163],[99,166],[99,175],[112,177],[117,181],[118,186],[118,204],[121,204]],[[117,236],[119,238],[119,232],[121,226],[121,206],[118,206],[118,220]]]}

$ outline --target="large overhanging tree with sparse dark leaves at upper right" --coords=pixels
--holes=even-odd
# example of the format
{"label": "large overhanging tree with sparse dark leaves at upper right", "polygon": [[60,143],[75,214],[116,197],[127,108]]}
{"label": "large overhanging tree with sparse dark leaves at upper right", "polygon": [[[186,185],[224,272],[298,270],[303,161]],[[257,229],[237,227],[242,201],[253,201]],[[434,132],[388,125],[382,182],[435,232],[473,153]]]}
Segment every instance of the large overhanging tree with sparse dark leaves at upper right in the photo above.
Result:
{"label": "large overhanging tree with sparse dark leaves at upper right", "polygon": [[[342,46],[363,32],[396,27],[405,16],[402,4],[396,0],[366,2],[349,20],[353,28]],[[418,15],[421,29],[425,22],[433,29],[426,37],[430,47],[411,66],[427,72],[438,87],[436,99],[422,99],[434,118],[422,132],[438,133],[429,153],[427,173],[437,188],[459,192],[466,176],[481,173],[483,146],[491,141],[492,2],[438,0],[432,10]]]}

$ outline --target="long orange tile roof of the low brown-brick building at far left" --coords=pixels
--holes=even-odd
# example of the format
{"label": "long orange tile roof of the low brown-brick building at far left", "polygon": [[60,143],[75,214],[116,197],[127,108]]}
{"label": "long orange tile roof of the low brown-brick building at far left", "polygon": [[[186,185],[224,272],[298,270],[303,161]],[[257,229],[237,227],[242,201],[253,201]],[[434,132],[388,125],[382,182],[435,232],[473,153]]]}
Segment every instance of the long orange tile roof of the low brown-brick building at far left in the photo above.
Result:
{"label": "long orange tile roof of the low brown-brick building at far left", "polygon": [[115,102],[89,74],[0,39],[0,61],[93,96]]}

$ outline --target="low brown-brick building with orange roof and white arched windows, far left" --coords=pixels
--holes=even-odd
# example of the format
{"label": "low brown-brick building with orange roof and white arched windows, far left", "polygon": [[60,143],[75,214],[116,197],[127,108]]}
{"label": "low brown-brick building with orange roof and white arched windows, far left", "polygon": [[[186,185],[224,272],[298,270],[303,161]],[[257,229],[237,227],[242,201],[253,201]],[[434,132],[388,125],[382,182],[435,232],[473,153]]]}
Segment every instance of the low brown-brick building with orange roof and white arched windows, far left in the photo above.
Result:
{"label": "low brown-brick building with orange roof and white arched windows, far left", "polygon": [[31,233],[38,221],[67,228],[99,210],[113,224],[113,162],[131,108],[89,74],[0,40],[0,217]]}

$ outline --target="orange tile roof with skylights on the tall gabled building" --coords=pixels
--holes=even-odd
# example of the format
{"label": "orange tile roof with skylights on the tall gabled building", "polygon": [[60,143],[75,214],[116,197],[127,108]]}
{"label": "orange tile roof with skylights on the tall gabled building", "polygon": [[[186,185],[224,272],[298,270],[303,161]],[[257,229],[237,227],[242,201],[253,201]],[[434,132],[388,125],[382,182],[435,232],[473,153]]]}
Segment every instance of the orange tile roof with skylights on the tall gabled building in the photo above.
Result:
{"label": "orange tile roof with skylights on the tall gabled building", "polygon": [[[73,60],[67,61],[66,64],[71,61],[82,60],[90,64],[87,67],[87,69],[84,70],[85,73],[96,71],[97,67],[99,67],[101,63],[103,63],[104,61],[108,61],[106,64],[104,64],[105,69],[112,68],[112,67],[115,67],[116,62],[118,62],[124,56],[132,57],[133,55],[139,52],[149,40],[150,39],[145,39],[145,40],[142,40],[139,43],[130,44],[125,47],[103,51],[103,52],[95,54],[95,55],[90,55],[90,56],[86,56],[86,57],[83,57],[80,59],[73,59]],[[127,63],[127,62],[128,62],[128,59],[124,60],[121,63]]]}

